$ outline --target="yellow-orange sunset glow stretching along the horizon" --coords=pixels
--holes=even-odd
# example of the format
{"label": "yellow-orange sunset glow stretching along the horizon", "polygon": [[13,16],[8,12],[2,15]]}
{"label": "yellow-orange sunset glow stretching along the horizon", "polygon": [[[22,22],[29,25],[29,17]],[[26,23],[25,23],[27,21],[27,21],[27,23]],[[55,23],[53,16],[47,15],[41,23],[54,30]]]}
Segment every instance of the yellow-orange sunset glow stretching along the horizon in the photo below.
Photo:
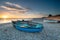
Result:
{"label": "yellow-orange sunset glow stretching along the horizon", "polygon": [[10,12],[5,12],[5,11],[0,11],[0,18],[2,19],[7,19],[7,18],[41,18],[43,15],[40,14],[19,14],[19,13],[10,13]]}

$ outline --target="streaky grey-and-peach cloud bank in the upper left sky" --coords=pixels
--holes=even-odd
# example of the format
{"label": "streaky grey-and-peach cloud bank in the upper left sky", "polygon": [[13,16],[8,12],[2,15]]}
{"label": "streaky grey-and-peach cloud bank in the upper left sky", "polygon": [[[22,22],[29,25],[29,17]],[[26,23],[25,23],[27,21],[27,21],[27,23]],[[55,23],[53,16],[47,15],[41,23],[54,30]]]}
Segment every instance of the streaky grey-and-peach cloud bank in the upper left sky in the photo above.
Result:
{"label": "streaky grey-and-peach cloud bank in the upper left sky", "polygon": [[16,12],[16,13],[25,13],[28,11],[27,8],[24,8],[18,4],[14,4],[14,3],[11,3],[11,2],[5,2],[5,4],[7,5],[2,5],[0,6],[1,8],[7,10],[7,11],[11,11],[11,12]]}

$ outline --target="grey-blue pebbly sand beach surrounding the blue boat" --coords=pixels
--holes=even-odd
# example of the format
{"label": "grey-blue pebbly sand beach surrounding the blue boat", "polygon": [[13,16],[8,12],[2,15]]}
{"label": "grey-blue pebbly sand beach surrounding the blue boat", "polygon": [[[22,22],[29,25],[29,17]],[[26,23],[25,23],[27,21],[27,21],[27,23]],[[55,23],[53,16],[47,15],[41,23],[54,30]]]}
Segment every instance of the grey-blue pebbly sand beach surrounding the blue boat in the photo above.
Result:
{"label": "grey-blue pebbly sand beach surrounding the blue boat", "polygon": [[44,30],[28,33],[15,29],[12,23],[0,24],[0,40],[60,40],[60,23],[43,23]]}

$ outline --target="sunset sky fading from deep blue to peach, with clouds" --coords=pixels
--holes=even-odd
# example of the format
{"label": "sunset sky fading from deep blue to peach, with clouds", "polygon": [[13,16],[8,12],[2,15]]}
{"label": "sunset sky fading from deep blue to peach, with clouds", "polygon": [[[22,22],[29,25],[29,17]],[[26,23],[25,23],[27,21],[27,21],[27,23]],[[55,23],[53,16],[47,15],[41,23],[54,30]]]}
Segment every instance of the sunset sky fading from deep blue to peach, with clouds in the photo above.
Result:
{"label": "sunset sky fading from deep blue to peach, with clouds", "polygon": [[60,14],[60,0],[0,0],[1,15],[43,17]]}

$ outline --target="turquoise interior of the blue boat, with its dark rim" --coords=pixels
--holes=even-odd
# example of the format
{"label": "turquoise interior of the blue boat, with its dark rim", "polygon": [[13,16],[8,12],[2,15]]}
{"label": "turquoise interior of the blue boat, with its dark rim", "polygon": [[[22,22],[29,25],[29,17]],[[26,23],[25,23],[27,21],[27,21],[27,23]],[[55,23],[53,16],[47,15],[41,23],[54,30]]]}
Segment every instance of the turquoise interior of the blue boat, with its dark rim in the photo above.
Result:
{"label": "turquoise interior of the blue boat, with its dark rim", "polygon": [[42,24],[31,22],[31,21],[12,21],[13,25],[20,26],[23,28],[41,28]]}

